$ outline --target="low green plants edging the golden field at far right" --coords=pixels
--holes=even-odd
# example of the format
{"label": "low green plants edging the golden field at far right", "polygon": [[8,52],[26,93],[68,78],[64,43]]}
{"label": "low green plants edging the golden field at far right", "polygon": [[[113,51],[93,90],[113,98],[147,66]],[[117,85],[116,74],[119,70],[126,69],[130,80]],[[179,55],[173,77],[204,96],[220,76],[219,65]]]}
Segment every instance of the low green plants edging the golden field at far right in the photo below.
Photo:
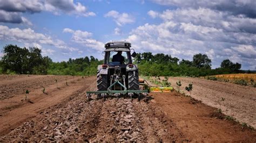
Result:
{"label": "low green plants edging the golden field at far right", "polygon": [[244,79],[234,78],[234,80],[229,80],[229,79],[225,79],[225,78],[219,78],[219,77],[216,77],[216,76],[205,76],[204,78],[206,80],[231,82],[231,83],[235,83],[235,84],[239,84],[239,85],[243,85],[243,86],[248,85],[248,86],[256,88],[256,82],[253,79],[251,79],[250,82],[248,82]]}

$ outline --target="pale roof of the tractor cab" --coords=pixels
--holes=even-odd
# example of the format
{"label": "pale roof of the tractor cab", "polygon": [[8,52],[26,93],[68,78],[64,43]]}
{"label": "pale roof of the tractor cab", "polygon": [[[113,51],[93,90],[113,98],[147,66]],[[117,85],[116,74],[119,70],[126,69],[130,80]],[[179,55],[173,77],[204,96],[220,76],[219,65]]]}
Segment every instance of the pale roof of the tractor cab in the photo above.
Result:
{"label": "pale roof of the tractor cab", "polygon": [[109,41],[105,44],[105,52],[125,51],[130,52],[131,43],[127,41]]}

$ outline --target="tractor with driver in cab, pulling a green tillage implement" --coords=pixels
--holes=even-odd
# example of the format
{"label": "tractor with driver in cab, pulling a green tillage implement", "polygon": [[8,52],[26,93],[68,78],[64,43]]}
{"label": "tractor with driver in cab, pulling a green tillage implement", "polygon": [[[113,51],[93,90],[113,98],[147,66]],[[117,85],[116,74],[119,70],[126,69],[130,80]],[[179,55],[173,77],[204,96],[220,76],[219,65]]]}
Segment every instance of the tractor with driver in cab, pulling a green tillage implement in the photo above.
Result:
{"label": "tractor with driver in cab, pulling a green tillage implement", "polygon": [[[131,50],[133,53],[131,54]],[[105,44],[104,64],[97,68],[97,91],[87,91],[87,97],[92,94],[133,95],[146,94],[148,90],[140,90],[138,66],[132,63],[136,52],[127,41],[110,41]]]}

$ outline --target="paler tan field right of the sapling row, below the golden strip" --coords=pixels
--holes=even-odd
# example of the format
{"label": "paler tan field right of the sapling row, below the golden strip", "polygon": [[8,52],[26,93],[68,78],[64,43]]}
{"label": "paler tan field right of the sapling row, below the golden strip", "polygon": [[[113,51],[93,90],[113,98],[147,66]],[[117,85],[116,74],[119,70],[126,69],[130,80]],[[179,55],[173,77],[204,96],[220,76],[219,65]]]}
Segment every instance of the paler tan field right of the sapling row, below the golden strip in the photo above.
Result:
{"label": "paler tan field right of the sapling row, below the golden strip", "polygon": [[193,98],[202,101],[206,105],[220,108],[226,115],[256,128],[256,88],[201,78],[169,78],[174,88],[176,88],[176,82],[179,80],[182,84],[182,92],[189,95],[185,91],[185,87],[189,83],[193,83],[191,95]]}

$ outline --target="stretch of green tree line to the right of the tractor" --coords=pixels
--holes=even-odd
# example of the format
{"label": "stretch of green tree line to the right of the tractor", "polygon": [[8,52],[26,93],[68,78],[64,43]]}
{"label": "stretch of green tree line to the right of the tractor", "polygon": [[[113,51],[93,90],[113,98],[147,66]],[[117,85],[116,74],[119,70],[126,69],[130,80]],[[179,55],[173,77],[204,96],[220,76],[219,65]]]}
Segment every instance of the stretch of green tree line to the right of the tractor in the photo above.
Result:
{"label": "stretch of green tree line to the right of the tractor", "polygon": [[134,59],[140,74],[148,76],[206,76],[217,74],[243,73],[240,63],[226,59],[219,68],[211,69],[211,59],[206,54],[193,55],[193,60],[180,60],[167,54],[151,52],[138,53]]}

